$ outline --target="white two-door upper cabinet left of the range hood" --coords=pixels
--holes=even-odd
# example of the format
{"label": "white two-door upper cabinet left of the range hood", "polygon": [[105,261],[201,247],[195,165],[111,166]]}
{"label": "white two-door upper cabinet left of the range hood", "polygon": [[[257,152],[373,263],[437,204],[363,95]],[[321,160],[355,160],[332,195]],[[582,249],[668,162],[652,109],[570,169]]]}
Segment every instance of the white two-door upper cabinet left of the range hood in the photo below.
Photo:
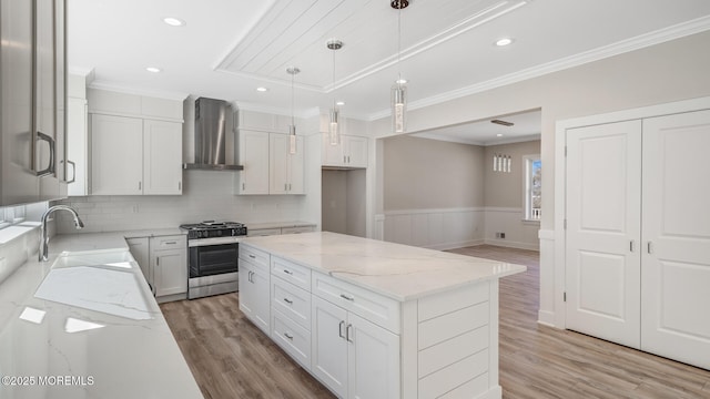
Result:
{"label": "white two-door upper cabinet left of the range hood", "polygon": [[182,193],[182,125],[91,115],[92,195]]}

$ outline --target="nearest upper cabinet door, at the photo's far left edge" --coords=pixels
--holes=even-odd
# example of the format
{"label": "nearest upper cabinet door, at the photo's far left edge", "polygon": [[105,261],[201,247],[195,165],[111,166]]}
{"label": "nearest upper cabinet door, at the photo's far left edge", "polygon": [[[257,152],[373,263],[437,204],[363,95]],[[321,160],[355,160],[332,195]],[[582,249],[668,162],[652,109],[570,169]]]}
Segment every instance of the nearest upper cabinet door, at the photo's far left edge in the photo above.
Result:
{"label": "nearest upper cabinet door, at the photo's far left edge", "polygon": [[32,1],[0,1],[0,205],[39,201],[34,175]]}

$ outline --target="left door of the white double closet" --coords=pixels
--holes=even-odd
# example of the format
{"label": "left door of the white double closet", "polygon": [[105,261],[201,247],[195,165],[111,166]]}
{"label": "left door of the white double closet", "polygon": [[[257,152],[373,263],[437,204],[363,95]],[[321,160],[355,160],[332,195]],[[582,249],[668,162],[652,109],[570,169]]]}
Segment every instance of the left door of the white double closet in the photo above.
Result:
{"label": "left door of the white double closet", "polygon": [[567,328],[640,346],[641,123],[567,131]]}

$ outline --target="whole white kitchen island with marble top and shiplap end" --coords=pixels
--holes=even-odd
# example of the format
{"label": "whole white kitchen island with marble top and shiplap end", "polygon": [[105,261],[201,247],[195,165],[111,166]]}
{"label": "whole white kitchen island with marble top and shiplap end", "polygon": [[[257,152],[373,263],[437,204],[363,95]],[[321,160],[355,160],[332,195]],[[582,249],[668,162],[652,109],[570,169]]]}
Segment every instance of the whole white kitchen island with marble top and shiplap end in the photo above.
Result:
{"label": "whole white kitchen island with marble top and shiplap end", "polygon": [[246,316],[338,397],[501,397],[498,278],[525,266],[323,232],[240,252],[271,265]]}

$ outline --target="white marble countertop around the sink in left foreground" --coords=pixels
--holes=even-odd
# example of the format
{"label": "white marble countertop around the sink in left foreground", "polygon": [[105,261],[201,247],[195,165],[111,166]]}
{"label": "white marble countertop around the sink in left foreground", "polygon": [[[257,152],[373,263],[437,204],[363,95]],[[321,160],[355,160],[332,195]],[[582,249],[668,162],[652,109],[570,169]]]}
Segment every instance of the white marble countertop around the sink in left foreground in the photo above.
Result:
{"label": "white marble countertop around the sink in left foreground", "polygon": [[[0,284],[0,398],[202,398],[140,267],[125,255],[131,234],[57,236],[49,262],[31,257]],[[128,260],[84,273],[55,262],[65,260],[62,252],[91,257],[109,248]],[[143,298],[141,307],[131,298]]]}

